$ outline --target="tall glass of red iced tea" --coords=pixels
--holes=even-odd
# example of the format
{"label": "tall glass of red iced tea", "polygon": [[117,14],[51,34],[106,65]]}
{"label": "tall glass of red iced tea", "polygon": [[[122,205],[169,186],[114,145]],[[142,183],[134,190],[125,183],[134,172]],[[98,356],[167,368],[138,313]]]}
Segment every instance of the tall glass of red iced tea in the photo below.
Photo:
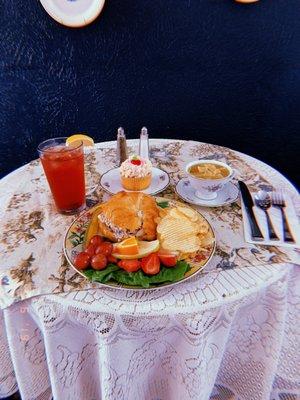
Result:
{"label": "tall glass of red iced tea", "polygon": [[83,143],[67,146],[66,139],[45,140],[38,152],[58,211],[74,214],[85,208]]}

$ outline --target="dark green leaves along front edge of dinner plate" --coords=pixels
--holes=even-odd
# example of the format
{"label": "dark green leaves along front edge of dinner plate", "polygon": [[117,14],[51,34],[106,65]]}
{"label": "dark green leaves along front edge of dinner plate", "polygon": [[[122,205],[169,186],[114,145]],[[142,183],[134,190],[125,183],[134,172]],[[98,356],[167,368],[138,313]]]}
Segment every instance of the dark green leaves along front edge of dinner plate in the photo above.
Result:
{"label": "dark green leaves along front edge of dinner plate", "polygon": [[83,272],[93,282],[114,281],[128,286],[149,288],[160,283],[180,281],[189,270],[190,265],[186,261],[177,261],[175,267],[167,268],[162,265],[156,275],[146,275],[141,269],[137,272],[126,272],[115,264],[108,264],[102,271],[88,269]]}

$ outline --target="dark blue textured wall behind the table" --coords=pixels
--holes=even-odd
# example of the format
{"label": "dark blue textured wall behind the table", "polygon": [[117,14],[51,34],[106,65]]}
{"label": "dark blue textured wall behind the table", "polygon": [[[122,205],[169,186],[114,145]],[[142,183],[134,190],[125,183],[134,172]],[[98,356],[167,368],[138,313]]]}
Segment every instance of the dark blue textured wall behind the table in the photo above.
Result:
{"label": "dark blue textured wall behind the table", "polygon": [[[299,182],[300,1],[107,0],[84,29],[0,3],[1,176],[50,136],[193,138]],[[298,168],[297,168],[298,167]]]}

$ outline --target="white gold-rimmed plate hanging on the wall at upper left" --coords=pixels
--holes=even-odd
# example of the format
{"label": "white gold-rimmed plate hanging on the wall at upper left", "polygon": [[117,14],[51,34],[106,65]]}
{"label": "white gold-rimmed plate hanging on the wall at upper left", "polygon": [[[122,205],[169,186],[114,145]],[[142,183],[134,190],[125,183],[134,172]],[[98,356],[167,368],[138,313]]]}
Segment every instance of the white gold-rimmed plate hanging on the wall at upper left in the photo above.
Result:
{"label": "white gold-rimmed plate hanging on the wall at upper left", "polygon": [[62,25],[79,28],[93,22],[105,0],[40,0],[47,13]]}

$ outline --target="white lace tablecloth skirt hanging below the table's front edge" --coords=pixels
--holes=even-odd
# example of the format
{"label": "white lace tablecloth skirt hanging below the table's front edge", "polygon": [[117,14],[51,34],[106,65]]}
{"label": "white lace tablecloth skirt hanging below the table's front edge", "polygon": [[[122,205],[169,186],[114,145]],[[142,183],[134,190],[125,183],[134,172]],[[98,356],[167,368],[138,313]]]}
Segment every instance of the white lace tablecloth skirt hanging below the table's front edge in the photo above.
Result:
{"label": "white lace tablecloth skirt hanging below the table's front edge", "polygon": [[17,381],[23,400],[299,399],[300,270],[277,267],[258,291],[191,312],[104,311],[101,289],[15,304],[0,314],[0,394]]}

